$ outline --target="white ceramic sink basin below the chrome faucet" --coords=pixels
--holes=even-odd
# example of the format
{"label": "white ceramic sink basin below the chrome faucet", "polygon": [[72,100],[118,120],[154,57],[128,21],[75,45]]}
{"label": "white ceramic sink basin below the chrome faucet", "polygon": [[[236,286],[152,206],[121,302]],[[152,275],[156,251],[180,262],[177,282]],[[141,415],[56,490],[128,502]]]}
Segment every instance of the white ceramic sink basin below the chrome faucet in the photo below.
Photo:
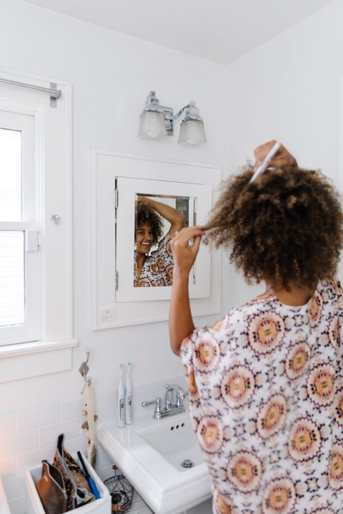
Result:
{"label": "white ceramic sink basin below the chrome faucet", "polygon": [[[158,421],[150,412],[123,429],[107,423],[98,439],[155,514],[179,514],[210,498],[210,475],[188,412]],[[182,467],[185,460],[194,466]]]}

